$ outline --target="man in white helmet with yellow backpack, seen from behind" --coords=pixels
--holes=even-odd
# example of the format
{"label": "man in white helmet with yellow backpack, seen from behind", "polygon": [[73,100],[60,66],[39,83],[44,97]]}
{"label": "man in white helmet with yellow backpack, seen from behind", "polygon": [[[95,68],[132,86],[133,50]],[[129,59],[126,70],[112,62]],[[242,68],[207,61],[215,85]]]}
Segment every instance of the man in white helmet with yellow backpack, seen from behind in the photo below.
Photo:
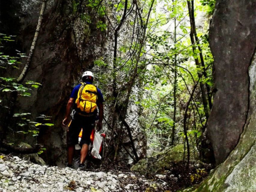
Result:
{"label": "man in white helmet with yellow backpack, seen from behind", "polygon": [[67,107],[65,118],[62,124],[68,124],[68,116],[71,112],[71,107],[74,105],[75,113],[72,115],[68,132],[68,167],[72,167],[75,145],[78,143],[78,135],[83,128],[83,134],[80,141],[81,157],[79,169],[84,169],[84,162],[88,153],[88,146],[90,144],[90,135],[95,126],[97,116],[97,106],[99,109],[99,120],[97,123],[97,131],[102,128],[103,119],[103,95],[101,90],[92,84],[94,75],[91,71],[86,71],[82,75],[82,81],[75,86],[71,92]]}

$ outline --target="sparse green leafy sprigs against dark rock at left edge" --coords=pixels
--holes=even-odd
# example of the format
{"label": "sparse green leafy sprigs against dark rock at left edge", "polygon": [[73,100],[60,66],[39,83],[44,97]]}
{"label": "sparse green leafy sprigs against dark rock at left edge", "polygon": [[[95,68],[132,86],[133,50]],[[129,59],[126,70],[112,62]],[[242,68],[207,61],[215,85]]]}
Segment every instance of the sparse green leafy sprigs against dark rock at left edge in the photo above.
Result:
{"label": "sparse green leafy sprigs against dark rock at left edge", "polygon": [[[2,45],[3,41],[14,41],[12,38],[14,36],[7,36],[4,34],[0,34],[0,43]],[[24,55],[23,53],[21,53],[20,51],[16,50],[16,56],[9,56],[9,55],[5,55],[4,53],[0,53],[0,67],[5,69],[5,70],[9,70],[9,68],[11,67],[11,69],[13,70],[13,68],[18,68],[18,65],[21,64],[20,60],[22,58],[26,57],[26,55]],[[8,74],[8,73],[7,73]],[[8,95],[11,92],[17,92],[18,96],[31,96],[30,91],[33,88],[39,88],[40,86],[42,86],[41,83],[38,82],[34,82],[32,80],[29,80],[27,82],[25,82],[24,84],[19,84],[17,83],[17,78],[16,77],[10,77],[10,76],[0,76],[0,94],[1,96],[3,96],[3,100],[1,100],[1,103],[3,101],[3,104],[0,106],[1,108],[6,108],[6,109],[10,109],[9,107],[9,102],[7,102],[6,100],[8,100]],[[31,113],[15,113],[13,115],[13,123],[16,124],[16,127],[14,129],[11,129],[13,131],[13,134],[29,134],[32,137],[36,137],[39,134],[40,128],[45,128],[45,127],[52,127],[54,124],[52,124],[50,122],[50,116],[45,116],[45,115],[40,115],[39,117],[37,117],[37,121],[38,122],[34,122],[31,120],[32,119],[32,115]],[[17,131],[18,130],[18,131]],[[18,137],[17,137],[18,138]],[[16,137],[12,137],[11,139],[13,142],[15,142]],[[38,153],[42,153],[43,150],[45,149],[41,149],[41,151],[39,151]]]}

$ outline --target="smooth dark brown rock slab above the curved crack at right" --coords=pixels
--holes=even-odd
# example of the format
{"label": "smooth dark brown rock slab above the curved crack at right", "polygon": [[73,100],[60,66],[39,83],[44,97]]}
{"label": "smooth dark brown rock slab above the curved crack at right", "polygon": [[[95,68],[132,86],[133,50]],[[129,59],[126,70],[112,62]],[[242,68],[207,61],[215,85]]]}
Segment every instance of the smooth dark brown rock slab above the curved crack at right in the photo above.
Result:
{"label": "smooth dark brown rock slab above the curved crack at right", "polygon": [[255,4],[254,0],[217,0],[210,25],[217,92],[207,131],[217,164],[234,149],[247,119],[248,67],[256,43]]}

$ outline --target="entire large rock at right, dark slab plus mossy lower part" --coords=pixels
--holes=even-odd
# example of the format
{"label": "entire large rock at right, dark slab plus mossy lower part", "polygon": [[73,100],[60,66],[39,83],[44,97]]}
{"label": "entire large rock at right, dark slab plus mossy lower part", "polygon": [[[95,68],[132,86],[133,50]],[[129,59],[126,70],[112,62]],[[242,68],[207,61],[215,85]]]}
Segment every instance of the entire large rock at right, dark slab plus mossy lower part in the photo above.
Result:
{"label": "entire large rock at right, dark slab plus mossy lower part", "polygon": [[210,44],[218,91],[207,129],[217,163],[228,157],[196,191],[256,190],[255,9],[252,0],[216,1]]}

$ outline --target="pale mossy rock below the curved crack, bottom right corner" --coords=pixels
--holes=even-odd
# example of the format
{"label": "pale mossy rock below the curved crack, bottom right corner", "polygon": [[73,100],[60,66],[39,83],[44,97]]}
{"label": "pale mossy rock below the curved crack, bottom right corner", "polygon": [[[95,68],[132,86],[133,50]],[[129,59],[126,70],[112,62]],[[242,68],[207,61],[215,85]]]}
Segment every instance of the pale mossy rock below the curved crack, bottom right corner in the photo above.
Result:
{"label": "pale mossy rock below the curved crack, bottom right corner", "polygon": [[197,191],[256,191],[256,54],[249,75],[250,109],[239,143]]}

